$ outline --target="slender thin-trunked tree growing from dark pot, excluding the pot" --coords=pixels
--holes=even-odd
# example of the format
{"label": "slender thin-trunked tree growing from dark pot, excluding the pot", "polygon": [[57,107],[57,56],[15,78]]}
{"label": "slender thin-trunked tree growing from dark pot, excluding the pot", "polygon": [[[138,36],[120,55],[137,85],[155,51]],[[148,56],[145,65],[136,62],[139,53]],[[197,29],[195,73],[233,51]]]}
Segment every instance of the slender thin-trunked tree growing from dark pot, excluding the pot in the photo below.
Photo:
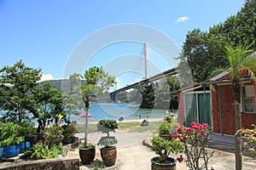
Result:
{"label": "slender thin-trunked tree growing from dark pot, excluding the pot", "polygon": [[[113,87],[115,77],[104,71],[102,67],[90,67],[88,71],[85,71],[84,78],[86,83],[82,85],[81,93],[85,105],[85,112],[89,113],[90,99],[97,94],[108,93],[108,89]],[[88,114],[86,114],[85,121],[85,133],[84,133],[84,148],[88,146]]]}

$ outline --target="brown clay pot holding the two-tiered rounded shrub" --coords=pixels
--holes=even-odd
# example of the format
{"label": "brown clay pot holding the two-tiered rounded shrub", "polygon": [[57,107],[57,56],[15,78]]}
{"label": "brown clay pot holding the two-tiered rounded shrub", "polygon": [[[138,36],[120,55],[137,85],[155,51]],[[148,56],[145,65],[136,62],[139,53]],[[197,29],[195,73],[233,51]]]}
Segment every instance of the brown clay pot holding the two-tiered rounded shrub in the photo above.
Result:
{"label": "brown clay pot holding the two-tiered rounded shrub", "polygon": [[116,161],[116,147],[111,146],[111,147],[104,147],[101,148],[101,156],[102,156],[102,161],[105,164],[106,167],[113,166]]}

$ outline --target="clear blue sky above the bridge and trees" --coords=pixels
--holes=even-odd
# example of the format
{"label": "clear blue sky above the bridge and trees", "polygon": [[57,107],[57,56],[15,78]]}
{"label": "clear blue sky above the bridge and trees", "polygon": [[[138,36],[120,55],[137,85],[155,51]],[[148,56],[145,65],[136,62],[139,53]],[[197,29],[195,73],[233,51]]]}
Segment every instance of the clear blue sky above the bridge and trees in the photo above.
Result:
{"label": "clear blue sky above the bridge and trees", "polygon": [[[181,48],[188,31],[207,31],[236,14],[243,4],[244,0],[0,0],[0,67],[22,59],[28,66],[41,68],[48,77],[61,78],[73,50],[84,38],[102,28],[125,23],[150,26]],[[166,64],[154,48],[148,47],[148,51],[148,57],[159,70],[173,66]],[[142,55],[143,43],[122,42],[102,47],[84,65],[84,70],[127,54]],[[122,87],[143,74],[131,70],[119,71],[116,76],[118,87]]]}

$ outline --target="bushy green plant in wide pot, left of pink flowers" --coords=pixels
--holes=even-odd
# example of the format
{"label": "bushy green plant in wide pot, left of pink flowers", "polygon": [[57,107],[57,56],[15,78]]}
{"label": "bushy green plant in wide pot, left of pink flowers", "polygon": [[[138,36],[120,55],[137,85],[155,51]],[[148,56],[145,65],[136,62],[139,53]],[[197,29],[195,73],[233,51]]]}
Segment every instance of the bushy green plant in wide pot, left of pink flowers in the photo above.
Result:
{"label": "bushy green plant in wide pot, left of pink flowers", "polygon": [[184,144],[178,139],[166,140],[160,136],[155,136],[152,140],[155,153],[159,156],[153,157],[151,161],[152,170],[170,169],[176,170],[176,159],[169,157],[171,153],[183,151]]}

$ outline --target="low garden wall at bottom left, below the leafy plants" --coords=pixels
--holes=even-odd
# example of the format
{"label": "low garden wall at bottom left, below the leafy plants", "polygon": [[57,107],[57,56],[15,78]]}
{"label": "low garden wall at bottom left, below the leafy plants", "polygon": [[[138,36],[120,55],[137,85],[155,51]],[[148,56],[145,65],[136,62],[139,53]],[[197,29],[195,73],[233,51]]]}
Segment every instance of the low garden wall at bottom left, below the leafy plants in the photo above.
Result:
{"label": "low garden wall at bottom left, below the leafy plants", "polygon": [[14,162],[5,166],[2,164],[0,164],[0,169],[4,170],[79,170],[79,158],[71,157],[61,157],[38,161],[26,161],[20,163]]}

